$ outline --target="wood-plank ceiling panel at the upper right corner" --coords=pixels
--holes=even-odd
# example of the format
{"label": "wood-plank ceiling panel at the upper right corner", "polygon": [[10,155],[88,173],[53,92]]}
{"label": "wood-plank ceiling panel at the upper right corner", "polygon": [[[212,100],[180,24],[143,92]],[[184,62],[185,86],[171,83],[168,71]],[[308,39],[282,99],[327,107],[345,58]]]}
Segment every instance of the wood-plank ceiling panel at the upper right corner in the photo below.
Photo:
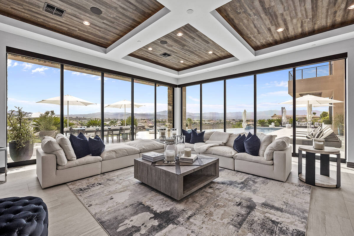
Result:
{"label": "wood-plank ceiling panel at the upper right corner", "polygon": [[[354,23],[353,0],[232,0],[216,11],[260,50]],[[278,33],[276,29],[285,28]]]}

